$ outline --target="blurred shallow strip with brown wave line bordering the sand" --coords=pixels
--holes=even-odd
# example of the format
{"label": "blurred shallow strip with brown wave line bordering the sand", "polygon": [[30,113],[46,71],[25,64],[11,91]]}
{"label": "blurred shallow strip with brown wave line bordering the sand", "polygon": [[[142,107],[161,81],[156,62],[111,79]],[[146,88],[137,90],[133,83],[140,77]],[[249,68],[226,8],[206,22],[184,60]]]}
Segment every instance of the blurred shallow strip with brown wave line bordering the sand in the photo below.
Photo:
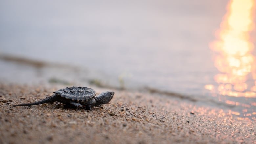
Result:
{"label": "blurred shallow strip with brown wave line bordering the sand", "polygon": [[[42,67],[38,67],[41,64]],[[256,120],[255,98],[237,100],[236,97],[220,96],[217,93],[202,91],[201,94],[187,94],[187,91],[173,91],[151,87],[145,84],[136,84],[132,81],[123,81],[117,77],[107,75],[96,70],[89,70],[74,65],[33,60],[15,55],[0,54],[0,65],[3,67],[0,82],[29,85],[64,85],[80,86],[92,85],[96,88],[108,88],[143,92],[153,95],[164,95],[170,98],[180,98],[185,101],[196,102],[204,106],[215,106],[222,109],[231,109],[234,115]],[[11,75],[11,76],[10,76]],[[133,86],[131,86],[133,85]],[[215,95],[215,96],[214,96]],[[243,111],[244,109],[247,109]]]}

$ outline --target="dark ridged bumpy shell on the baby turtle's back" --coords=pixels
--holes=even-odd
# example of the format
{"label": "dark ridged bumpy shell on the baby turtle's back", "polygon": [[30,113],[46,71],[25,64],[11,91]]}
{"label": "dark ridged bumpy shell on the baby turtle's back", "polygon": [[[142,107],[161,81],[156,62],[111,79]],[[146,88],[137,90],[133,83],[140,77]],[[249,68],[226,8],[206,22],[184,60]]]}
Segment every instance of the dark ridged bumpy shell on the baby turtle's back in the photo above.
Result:
{"label": "dark ridged bumpy shell on the baby turtle's back", "polygon": [[89,100],[93,99],[96,95],[94,89],[87,87],[67,87],[65,89],[60,89],[53,93],[61,97],[65,97],[66,99],[82,102],[88,102]]}

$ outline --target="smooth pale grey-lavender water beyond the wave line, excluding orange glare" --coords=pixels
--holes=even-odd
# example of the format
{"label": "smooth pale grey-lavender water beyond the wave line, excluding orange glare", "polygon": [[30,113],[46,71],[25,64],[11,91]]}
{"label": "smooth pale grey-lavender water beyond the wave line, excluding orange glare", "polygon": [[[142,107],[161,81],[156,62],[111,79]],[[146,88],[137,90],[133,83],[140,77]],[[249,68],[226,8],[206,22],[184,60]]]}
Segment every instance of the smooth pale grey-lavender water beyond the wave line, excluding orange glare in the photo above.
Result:
{"label": "smooth pale grey-lavender water beyond the wave line, excluding orange glare", "polygon": [[[100,73],[103,81],[117,84],[121,79],[125,87],[219,101],[223,97],[212,97],[204,86],[216,84],[209,43],[227,2],[5,1],[0,52],[79,66],[88,70],[84,75]],[[8,79],[6,73],[2,79]],[[250,103],[255,99],[239,101],[251,106],[250,113],[256,111]]]}

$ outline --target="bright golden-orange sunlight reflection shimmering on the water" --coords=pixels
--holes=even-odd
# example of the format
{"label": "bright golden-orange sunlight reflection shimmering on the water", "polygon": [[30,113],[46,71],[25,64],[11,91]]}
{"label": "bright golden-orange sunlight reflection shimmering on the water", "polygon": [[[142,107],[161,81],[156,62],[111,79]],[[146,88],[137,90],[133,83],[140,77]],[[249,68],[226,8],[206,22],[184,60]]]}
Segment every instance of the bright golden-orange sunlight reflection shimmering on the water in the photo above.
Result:
{"label": "bright golden-orange sunlight reflection shimmering on the water", "polygon": [[[256,58],[252,55],[254,45],[250,37],[255,29],[255,0],[231,0],[227,10],[216,33],[217,40],[210,43],[211,50],[217,54],[214,65],[220,73],[214,76],[214,80],[219,86],[208,84],[205,89],[223,96],[256,98]],[[252,84],[248,82],[252,80]],[[245,108],[255,106],[254,103],[248,105],[230,100],[225,103]],[[231,114],[240,115],[233,111]]]}

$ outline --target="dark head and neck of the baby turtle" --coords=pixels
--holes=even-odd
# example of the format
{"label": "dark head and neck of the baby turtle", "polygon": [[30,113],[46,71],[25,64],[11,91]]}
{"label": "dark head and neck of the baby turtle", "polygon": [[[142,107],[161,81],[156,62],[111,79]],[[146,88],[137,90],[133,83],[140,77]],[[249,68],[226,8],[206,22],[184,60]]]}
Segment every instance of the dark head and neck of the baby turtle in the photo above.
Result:
{"label": "dark head and neck of the baby turtle", "polygon": [[96,96],[94,98],[96,101],[95,106],[107,104],[113,98],[114,94],[115,94],[115,92],[113,92],[113,91],[107,91],[107,92],[103,92],[103,93],[99,94],[98,96]]}

